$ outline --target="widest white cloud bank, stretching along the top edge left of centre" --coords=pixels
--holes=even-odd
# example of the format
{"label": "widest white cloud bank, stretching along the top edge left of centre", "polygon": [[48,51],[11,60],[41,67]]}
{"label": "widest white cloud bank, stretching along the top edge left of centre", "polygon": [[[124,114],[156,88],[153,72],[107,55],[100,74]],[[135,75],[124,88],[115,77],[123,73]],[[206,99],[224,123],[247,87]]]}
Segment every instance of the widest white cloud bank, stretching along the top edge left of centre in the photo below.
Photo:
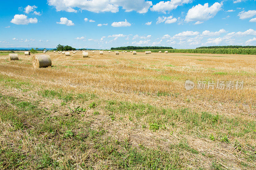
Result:
{"label": "widest white cloud bank, stretching along the top edge left of centre", "polygon": [[118,12],[119,6],[126,12],[137,11],[146,13],[151,1],[145,0],[48,0],[48,4],[56,8],[57,11],[77,12],[74,8],[91,12]]}

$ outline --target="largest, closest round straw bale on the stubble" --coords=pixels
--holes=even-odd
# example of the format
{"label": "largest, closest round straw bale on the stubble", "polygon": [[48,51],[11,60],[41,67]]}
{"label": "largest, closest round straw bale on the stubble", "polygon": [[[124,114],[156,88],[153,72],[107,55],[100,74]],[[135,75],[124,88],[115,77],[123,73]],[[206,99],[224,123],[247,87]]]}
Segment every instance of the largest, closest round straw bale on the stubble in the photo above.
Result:
{"label": "largest, closest round straw bale on the stubble", "polygon": [[49,67],[52,65],[52,60],[49,55],[34,55],[33,66],[34,68]]}

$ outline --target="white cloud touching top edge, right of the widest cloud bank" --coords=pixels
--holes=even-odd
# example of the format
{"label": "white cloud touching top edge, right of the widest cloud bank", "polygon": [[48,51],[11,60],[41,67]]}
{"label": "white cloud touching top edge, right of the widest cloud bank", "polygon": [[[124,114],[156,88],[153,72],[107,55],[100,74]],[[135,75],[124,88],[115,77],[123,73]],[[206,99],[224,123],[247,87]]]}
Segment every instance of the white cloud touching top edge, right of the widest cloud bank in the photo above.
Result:
{"label": "white cloud touching top edge, right of the widest cloud bank", "polygon": [[173,9],[176,9],[178,6],[183,4],[191,3],[193,0],[170,0],[170,1],[161,1],[155,5],[153,5],[152,8],[150,8],[151,11],[157,11],[157,12],[166,12],[171,11]]}

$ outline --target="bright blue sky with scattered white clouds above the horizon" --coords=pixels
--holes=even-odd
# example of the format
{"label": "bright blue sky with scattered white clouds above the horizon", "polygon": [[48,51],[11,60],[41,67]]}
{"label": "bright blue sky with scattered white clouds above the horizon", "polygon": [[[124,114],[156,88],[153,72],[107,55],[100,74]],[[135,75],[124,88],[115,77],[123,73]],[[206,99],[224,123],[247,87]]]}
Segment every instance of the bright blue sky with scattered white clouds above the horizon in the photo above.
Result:
{"label": "bright blue sky with scattered white clouds above the horizon", "polygon": [[256,46],[255,0],[12,0],[1,6],[0,48]]}

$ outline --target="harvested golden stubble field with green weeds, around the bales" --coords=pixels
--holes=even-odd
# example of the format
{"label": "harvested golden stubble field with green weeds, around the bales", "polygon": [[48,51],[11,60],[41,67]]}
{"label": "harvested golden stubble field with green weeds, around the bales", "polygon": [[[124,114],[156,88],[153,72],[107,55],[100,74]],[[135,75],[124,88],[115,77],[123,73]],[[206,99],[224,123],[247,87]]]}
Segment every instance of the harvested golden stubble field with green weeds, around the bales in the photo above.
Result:
{"label": "harvested golden stubble field with green weeds, around the bales", "polygon": [[46,54],[0,55],[1,169],[256,169],[256,55]]}

